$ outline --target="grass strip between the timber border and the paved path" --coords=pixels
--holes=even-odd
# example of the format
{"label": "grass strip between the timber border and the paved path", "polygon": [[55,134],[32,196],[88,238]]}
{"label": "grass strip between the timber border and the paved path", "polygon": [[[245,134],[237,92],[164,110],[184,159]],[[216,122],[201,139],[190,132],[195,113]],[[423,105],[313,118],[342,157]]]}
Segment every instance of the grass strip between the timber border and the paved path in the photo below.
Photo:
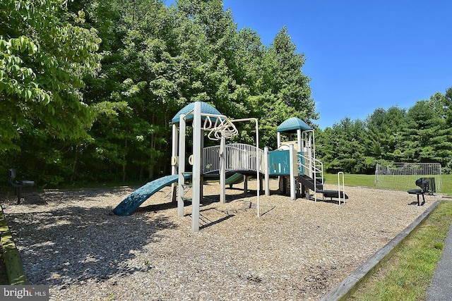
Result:
{"label": "grass strip between the timber border and the paved path", "polygon": [[349,300],[425,300],[452,223],[452,202],[442,202]]}

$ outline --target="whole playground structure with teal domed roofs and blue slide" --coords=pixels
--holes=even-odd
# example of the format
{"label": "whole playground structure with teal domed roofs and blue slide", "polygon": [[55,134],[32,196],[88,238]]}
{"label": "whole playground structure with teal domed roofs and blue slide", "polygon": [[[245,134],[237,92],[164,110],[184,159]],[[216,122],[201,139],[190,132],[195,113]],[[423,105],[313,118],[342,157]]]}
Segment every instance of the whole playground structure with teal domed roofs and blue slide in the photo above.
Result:
{"label": "whole playground structure with teal domed roofs and blue slide", "polygon": [[[230,144],[226,139],[238,135],[234,123],[254,122],[256,124],[256,145]],[[192,154],[187,158],[186,129],[192,127]],[[248,176],[257,178],[257,216],[260,216],[259,194],[264,186],[266,195],[270,195],[269,178],[278,177],[280,191],[290,190],[291,199],[297,193],[302,197],[317,200],[316,194],[324,197],[339,198],[339,204],[345,202],[347,195],[344,185],[340,190],[323,190],[323,167],[315,158],[314,130],[299,118],[289,118],[278,129],[278,149],[269,152],[268,147],[258,146],[258,120],[245,118],[230,120],[218,110],[204,102],[194,102],[181,109],[172,118],[172,175],[153,180],[133,192],[114,209],[114,214],[130,215],[146,199],[162,187],[172,185],[172,200],[177,202],[178,216],[184,215],[184,202],[191,202],[192,231],[199,231],[199,207],[203,197],[203,178],[218,176],[220,178],[220,202],[225,203],[225,186],[239,181],[239,173],[244,180],[245,190]],[[288,133],[291,138],[297,134],[296,141],[281,142],[281,134]],[[204,147],[204,137],[220,140],[220,145]],[[188,160],[187,160],[188,159]],[[186,168],[186,161],[192,170]],[[235,175],[226,178],[226,175]],[[343,176],[343,175],[342,175]],[[264,185],[262,185],[265,178]],[[339,180],[338,174],[338,180]],[[343,177],[342,177],[343,180]],[[189,181],[189,183],[186,183]],[[287,187],[288,186],[288,187]],[[191,190],[191,197],[186,194]]]}

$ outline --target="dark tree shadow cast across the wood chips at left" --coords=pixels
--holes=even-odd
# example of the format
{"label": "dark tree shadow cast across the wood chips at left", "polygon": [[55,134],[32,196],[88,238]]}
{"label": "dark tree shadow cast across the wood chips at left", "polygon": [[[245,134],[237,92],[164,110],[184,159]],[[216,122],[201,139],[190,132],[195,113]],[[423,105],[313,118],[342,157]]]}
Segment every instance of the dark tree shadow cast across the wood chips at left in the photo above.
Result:
{"label": "dark tree shadow cast across the wood chips at left", "polygon": [[[160,240],[159,232],[174,224],[143,214],[115,216],[111,208],[102,207],[102,201],[95,201],[114,194],[112,190],[35,192],[25,199],[26,212],[8,214],[6,210],[30,283],[64,288],[69,283],[102,281],[148,269],[144,262],[133,267],[124,262],[145,245]],[[89,208],[73,202],[90,197],[93,204]],[[7,199],[4,207],[16,206],[14,201],[13,197]],[[68,202],[68,206],[43,208],[50,202]]]}

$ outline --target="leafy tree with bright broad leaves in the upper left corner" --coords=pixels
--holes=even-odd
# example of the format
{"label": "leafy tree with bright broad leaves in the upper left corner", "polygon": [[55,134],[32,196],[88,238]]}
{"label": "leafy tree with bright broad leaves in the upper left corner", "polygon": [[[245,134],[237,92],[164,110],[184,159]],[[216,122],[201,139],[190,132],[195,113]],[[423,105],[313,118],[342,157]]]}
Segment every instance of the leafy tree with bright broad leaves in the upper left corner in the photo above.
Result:
{"label": "leafy tree with bright broad leaves in the upper left corner", "polygon": [[62,0],[1,1],[1,152],[19,149],[24,133],[88,136],[93,113],[81,88],[83,76],[99,67],[100,39],[80,26],[83,17],[83,11],[69,13]]}

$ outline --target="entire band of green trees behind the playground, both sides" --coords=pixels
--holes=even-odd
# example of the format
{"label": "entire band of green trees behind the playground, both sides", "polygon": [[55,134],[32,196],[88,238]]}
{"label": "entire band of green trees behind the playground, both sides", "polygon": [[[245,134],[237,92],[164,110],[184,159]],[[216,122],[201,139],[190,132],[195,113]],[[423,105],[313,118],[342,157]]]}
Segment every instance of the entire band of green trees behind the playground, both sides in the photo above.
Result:
{"label": "entire band of green trees behind the playground, both sides", "polygon": [[[172,117],[196,100],[258,118],[259,144],[275,148],[287,118],[319,118],[290,30],[264,45],[222,0],[1,1],[0,169],[41,187],[151,180],[169,173]],[[331,172],[371,173],[377,161],[451,171],[451,104],[448,89],[344,117],[317,129],[317,152]],[[239,134],[254,142],[254,125]]]}

